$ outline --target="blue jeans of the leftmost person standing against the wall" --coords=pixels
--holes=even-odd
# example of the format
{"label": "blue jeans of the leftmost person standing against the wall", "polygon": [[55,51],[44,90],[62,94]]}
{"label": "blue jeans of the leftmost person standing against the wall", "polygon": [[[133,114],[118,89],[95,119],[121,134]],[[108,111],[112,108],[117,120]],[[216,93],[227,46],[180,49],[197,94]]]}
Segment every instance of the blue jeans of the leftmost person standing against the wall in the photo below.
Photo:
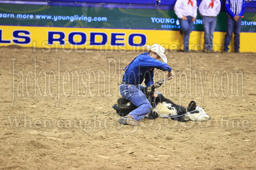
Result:
{"label": "blue jeans of the leftmost person standing against the wall", "polygon": [[188,20],[183,20],[179,18],[179,22],[181,25],[181,30],[184,31],[184,52],[188,51],[188,44],[189,44],[189,34],[192,32],[193,24],[192,22],[193,17],[187,16]]}

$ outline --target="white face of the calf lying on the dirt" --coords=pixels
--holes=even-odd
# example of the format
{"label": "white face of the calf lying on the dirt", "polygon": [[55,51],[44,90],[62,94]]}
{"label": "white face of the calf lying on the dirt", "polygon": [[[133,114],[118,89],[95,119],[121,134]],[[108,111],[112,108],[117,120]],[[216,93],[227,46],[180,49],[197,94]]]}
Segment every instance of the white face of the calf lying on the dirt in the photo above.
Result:
{"label": "white face of the calf lying on the dirt", "polygon": [[192,121],[203,122],[203,121],[211,119],[211,117],[208,116],[206,114],[206,112],[204,112],[203,108],[196,106],[196,111],[199,111],[199,113],[191,112],[191,113],[186,114],[185,121],[192,120]]}

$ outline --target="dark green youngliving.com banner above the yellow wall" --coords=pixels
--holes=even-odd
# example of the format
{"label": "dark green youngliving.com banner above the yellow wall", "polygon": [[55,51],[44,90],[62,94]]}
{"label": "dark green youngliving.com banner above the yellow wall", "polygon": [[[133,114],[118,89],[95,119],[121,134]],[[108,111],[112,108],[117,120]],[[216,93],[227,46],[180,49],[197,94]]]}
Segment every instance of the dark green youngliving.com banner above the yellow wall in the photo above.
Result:
{"label": "dark green youngliving.com banner above the yellow wall", "polygon": [[[218,14],[215,31],[226,31],[226,17],[226,12]],[[256,13],[245,12],[241,24],[242,32],[256,32]],[[180,28],[173,10],[25,4],[1,4],[0,25],[165,30]],[[203,31],[200,14],[197,15],[194,29]]]}

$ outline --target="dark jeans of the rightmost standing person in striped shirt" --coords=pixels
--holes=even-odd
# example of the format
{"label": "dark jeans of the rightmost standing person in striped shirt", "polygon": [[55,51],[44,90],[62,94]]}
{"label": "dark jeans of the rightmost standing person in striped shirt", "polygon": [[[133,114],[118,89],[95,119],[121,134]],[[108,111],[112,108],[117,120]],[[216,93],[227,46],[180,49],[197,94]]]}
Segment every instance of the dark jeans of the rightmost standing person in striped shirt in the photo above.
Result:
{"label": "dark jeans of the rightmost standing person in striped shirt", "polygon": [[227,17],[227,32],[225,35],[224,51],[229,51],[230,39],[234,31],[234,49],[239,51],[240,46],[240,31],[241,31],[241,18],[237,22],[231,17]]}

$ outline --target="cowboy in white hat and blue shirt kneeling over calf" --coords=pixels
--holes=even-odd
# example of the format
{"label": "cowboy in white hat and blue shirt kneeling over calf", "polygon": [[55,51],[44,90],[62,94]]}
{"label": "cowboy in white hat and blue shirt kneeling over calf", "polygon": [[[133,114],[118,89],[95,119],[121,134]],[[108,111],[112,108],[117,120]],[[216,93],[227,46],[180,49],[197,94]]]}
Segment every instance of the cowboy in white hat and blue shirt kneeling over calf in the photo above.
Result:
{"label": "cowboy in white hat and blue shirt kneeling over calf", "polygon": [[[125,117],[118,120],[121,124],[128,124],[130,126],[138,126],[138,120],[146,116],[152,110],[152,106],[147,100],[147,97],[141,91],[145,86],[140,85],[145,79],[146,86],[154,84],[154,68],[163,71],[168,71],[169,80],[173,79],[172,68],[167,65],[167,58],[164,54],[165,48],[155,43],[153,46],[143,46],[144,49],[149,50],[146,53],[139,54],[128,65],[124,67],[123,80],[120,85],[120,94],[123,98],[131,101],[137,109],[130,112]],[[162,58],[162,61],[160,59]],[[171,77],[172,76],[172,77]],[[156,90],[152,97],[157,97]]]}

